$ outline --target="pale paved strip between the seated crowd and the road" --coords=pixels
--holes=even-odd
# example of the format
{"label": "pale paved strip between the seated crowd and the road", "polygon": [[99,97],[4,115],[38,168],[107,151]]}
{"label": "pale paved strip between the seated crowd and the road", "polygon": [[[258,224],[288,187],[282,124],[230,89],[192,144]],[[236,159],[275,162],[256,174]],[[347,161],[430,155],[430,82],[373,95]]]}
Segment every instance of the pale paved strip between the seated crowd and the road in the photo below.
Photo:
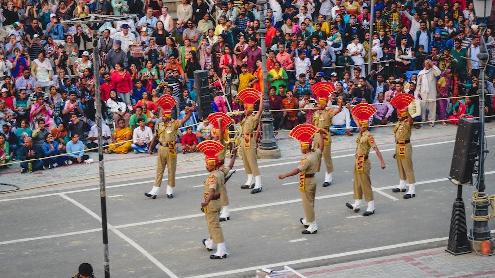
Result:
{"label": "pale paved strip between the seated crowd and the road", "polygon": [[[394,137],[392,127],[372,128],[371,132],[375,136],[375,141],[381,149],[393,147]],[[495,123],[488,123],[485,127],[487,135],[490,135],[495,130]],[[446,127],[436,124],[431,128],[424,126],[420,129],[413,129],[412,142],[415,144],[429,143],[430,139],[453,140],[457,132],[457,127],[448,125]],[[492,132],[492,133],[491,133]],[[276,162],[287,159],[300,159],[299,142],[288,136],[288,131],[280,131],[277,138],[278,147],[281,149],[282,157],[272,160],[259,160],[259,163]],[[355,150],[354,136],[332,136],[332,155],[338,155],[342,152],[353,152]],[[429,141],[430,140],[430,141]],[[388,146],[383,146],[388,145]],[[453,143],[452,143],[453,146]],[[0,170],[0,184],[14,184],[21,189],[46,187],[50,185],[58,185],[60,187],[75,187],[79,185],[98,184],[98,154],[88,153],[95,160],[93,164],[79,164],[71,166],[63,166],[52,170],[37,171],[33,174],[20,174],[19,164],[14,164],[10,169]],[[177,156],[177,174],[200,171],[204,169],[204,156],[200,153],[193,154],[178,154]],[[385,158],[391,169],[395,168],[395,161],[390,157]],[[446,161],[450,163],[450,161]],[[125,155],[111,154],[105,155],[105,174],[106,182],[129,181],[131,179],[149,178],[153,179],[155,175],[154,167],[156,165],[156,154],[134,154],[132,151]],[[237,166],[242,167],[242,161],[236,161]],[[130,172],[130,173],[129,173]],[[122,173],[127,173],[120,175]],[[263,173],[261,173],[263,174]],[[116,175],[116,176],[115,176]],[[67,185],[71,184],[71,185]],[[0,191],[8,190],[9,187],[1,186]]]}

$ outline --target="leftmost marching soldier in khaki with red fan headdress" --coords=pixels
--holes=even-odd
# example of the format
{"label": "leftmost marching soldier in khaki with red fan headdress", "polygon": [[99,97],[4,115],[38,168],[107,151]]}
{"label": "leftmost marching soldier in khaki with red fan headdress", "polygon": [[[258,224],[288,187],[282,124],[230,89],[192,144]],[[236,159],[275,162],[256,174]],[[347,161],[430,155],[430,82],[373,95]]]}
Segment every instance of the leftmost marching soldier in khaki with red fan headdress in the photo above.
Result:
{"label": "leftmost marching soldier in khaki with red fan headdress", "polygon": [[149,148],[149,154],[153,154],[154,142],[156,138],[159,141],[158,157],[156,158],[156,177],[154,186],[150,192],[145,193],[146,197],[155,199],[160,191],[161,180],[163,179],[163,172],[165,167],[168,168],[168,184],[167,184],[167,197],[174,198],[173,188],[175,187],[175,166],[177,165],[177,149],[175,146],[175,139],[179,128],[189,119],[191,116],[191,107],[186,106],[184,112],[186,117],[181,120],[171,120],[172,107],[175,106],[177,101],[171,95],[161,96],[157,104],[162,108],[162,121],[156,128],[156,133],[151,141],[151,147]]}

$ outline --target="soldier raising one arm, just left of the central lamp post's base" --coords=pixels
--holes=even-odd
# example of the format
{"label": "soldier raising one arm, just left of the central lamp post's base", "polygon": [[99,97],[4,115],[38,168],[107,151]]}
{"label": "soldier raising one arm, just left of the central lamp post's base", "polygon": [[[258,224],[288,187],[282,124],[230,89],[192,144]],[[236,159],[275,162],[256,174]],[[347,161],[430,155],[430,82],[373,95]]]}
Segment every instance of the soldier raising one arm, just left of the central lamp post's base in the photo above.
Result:
{"label": "soldier raising one arm, just left of the central lamp post's base", "polygon": [[[261,192],[261,176],[259,175],[258,161],[256,160],[256,140],[254,133],[258,127],[259,117],[263,111],[263,103],[260,101],[258,113],[252,114],[254,111],[254,103],[263,99],[259,91],[251,88],[244,89],[237,94],[244,102],[244,119],[241,121],[241,129],[243,133],[243,163],[244,171],[247,174],[247,181],[241,185],[242,189],[254,188],[251,193]],[[253,183],[254,177],[254,183]]]}

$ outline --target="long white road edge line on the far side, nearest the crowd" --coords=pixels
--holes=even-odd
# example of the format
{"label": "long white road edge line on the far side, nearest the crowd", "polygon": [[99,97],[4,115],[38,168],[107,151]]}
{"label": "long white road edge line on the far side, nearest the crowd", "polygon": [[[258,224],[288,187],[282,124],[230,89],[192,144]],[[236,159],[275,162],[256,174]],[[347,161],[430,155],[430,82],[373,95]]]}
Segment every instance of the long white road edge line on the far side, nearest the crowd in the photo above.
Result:
{"label": "long white road edge line on the far side, nearest the crowd", "polygon": [[[485,136],[485,137],[487,137],[487,138],[489,138],[489,137],[495,137],[495,135],[488,135],[488,136]],[[452,142],[455,142],[455,140],[435,142],[435,143],[427,143],[427,144],[420,144],[420,145],[413,146],[413,148],[425,147],[425,146],[432,146],[432,145],[439,145],[439,144],[446,144],[446,143],[452,143]],[[383,152],[387,152],[387,151],[395,151],[395,149],[385,149],[385,150],[381,150],[380,152],[383,153]],[[371,153],[373,153],[373,152],[374,151],[372,151]],[[340,155],[340,156],[332,156],[332,159],[338,159],[338,158],[344,158],[344,157],[352,157],[354,155],[355,154],[346,154],[346,155]],[[277,163],[277,164],[270,164],[270,165],[262,165],[262,166],[258,166],[258,168],[266,168],[266,167],[273,167],[273,166],[295,164],[295,163],[299,163],[299,162],[300,162],[300,160],[296,160],[296,161],[291,161],[291,162],[284,162],[284,163]],[[239,169],[236,169],[236,170],[237,171],[243,171],[244,168],[239,168]],[[186,179],[186,178],[200,177],[200,176],[206,176],[206,175],[208,175],[208,173],[187,175],[187,176],[182,176],[182,177],[175,177],[175,179],[176,180],[177,179]],[[166,178],[163,179],[163,181],[166,181],[166,180],[168,180],[168,179],[166,179]],[[448,180],[448,179],[442,179],[442,180]],[[139,185],[139,184],[150,184],[152,182],[154,182],[154,180],[132,182],[132,183],[125,183],[125,184],[118,184],[118,185],[110,185],[110,186],[107,186],[106,188],[116,188],[116,187],[123,187],[123,186],[129,186],[129,185]],[[416,184],[418,184],[418,183],[416,183]],[[92,190],[99,190],[99,187],[86,188],[86,189],[78,189],[78,190],[71,190],[71,191],[65,191],[65,192],[60,192],[60,193],[69,194],[69,193],[78,193],[78,192],[85,192],[85,191],[92,191]],[[3,199],[3,200],[0,200],[0,202],[22,200],[22,199],[32,199],[32,198],[39,198],[39,197],[48,197],[48,196],[55,196],[55,195],[58,195],[58,194],[59,193],[49,193],[49,194],[42,194],[42,195],[36,195],[36,196],[27,196],[27,197],[19,197],[19,198],[12,198],[12,199]]]}

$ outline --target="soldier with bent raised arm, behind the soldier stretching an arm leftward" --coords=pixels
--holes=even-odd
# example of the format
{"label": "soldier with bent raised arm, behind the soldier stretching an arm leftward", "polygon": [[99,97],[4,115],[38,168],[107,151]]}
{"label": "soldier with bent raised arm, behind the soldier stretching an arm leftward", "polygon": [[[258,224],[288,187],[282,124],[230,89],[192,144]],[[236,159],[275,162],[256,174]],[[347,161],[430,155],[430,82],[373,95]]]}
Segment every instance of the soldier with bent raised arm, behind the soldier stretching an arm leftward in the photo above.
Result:
{"label": "soldier with bent raised arm, behind the soldier stretching an arm leftward", "polygon": [[[331,86],[331,87],[329,87]],[[330,138],[329,127],[332,125],[332,118],[342,110],[342,103],[339,104],[339,108],[334,110],[325,110],[330,93],[335,91],[335,88],[331,83],[319,82],[311,87],[311,90],[318,97],[318,110],[313,114],[313,125],[318,128],[319,133],[315,135],[315,149],[319,148],[319,138],[323,137],[323,152],[322,157],[325,159],[325,181],[323,187],[327,187],[332,183],[332,172],[334,171],[334,165],[332,163],[332,156],[330,154],[330,148],[332,145],[332,139]],[[318,162],[317,171],[320,171],[321,159]]]}

